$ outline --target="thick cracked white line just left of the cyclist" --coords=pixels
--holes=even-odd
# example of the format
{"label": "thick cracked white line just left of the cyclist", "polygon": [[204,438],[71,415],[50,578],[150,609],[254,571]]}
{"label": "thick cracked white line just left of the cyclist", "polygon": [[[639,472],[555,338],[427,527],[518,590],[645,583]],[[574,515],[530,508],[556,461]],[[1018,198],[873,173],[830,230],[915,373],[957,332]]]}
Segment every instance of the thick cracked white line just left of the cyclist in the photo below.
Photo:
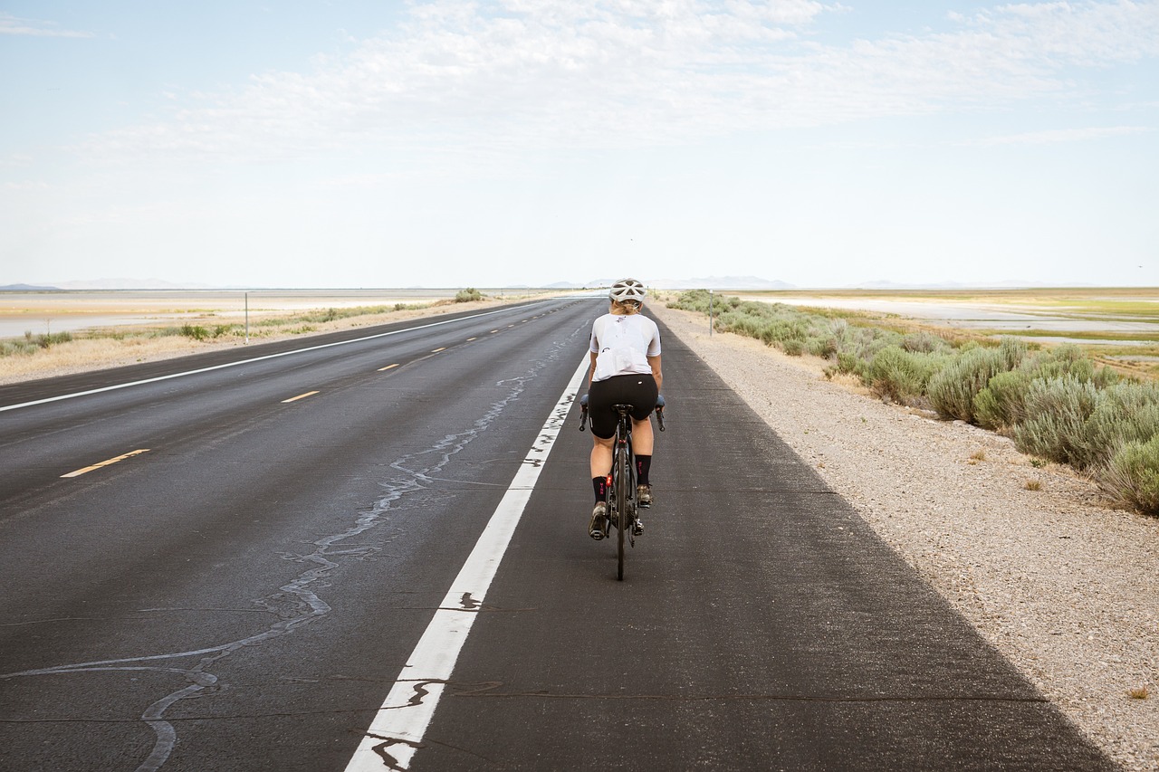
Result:
{"label": "thick cracked white line just left of the cyclist", "polygon": [[[539,473],[547,461],[560,429],[580,391],[580,384],[591,363],[586,355],[556,402],[534,445],[527,452],[519,471],[483,529],[451,589],[439,604],[435,618],[407,664],[399,672],[394,686],[366,730],[345,772],[378,772],[404,770],[423,741],[427,727],[435,715],[443,686],[451,678],[459,651],[467,640],[482,605],[483,597],[495,578],[503,553],[506,552],[515,527],[531,498]],[[393,765],[387,762],[393,758]]]}

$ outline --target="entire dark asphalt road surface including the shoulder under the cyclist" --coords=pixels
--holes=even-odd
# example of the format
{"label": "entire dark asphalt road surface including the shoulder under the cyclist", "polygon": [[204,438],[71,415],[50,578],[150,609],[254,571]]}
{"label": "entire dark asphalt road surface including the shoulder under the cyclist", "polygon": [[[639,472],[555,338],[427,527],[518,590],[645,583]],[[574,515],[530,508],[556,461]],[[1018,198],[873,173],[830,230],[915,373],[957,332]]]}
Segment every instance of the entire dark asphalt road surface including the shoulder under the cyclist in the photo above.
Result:
{"label": "entire dark asphalt road surface including the shoulder under the cyclist", "polygon": [[[341,771],[436,693],[372,766],[1113,769],[672,336],[618,582],[568,413],[603,308],[0,388],[0,769]],[[408,678],[445,613],[453,673]]]}

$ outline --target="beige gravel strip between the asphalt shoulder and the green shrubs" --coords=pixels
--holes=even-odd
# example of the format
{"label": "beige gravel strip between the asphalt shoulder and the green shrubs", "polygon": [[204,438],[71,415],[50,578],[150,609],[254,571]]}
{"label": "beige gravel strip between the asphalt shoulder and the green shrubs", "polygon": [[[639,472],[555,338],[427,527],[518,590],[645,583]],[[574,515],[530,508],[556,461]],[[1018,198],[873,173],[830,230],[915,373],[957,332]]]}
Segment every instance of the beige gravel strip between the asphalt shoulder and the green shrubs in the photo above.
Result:
{"label": "beige gravel strip between the asphalt shoulder and the green shrubs", "polygon": [[826,381],[819,360],[649,311],[1093,742],[1159,770],[1159,519],[1005,437]]}

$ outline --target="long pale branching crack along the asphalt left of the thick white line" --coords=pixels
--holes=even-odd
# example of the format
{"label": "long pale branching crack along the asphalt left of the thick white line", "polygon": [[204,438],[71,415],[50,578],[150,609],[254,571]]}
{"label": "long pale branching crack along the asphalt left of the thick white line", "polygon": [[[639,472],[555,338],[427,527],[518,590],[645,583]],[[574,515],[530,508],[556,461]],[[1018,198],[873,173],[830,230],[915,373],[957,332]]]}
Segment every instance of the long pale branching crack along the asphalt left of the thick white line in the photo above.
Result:
{"label": "long pale branching crack along the asphalt left of the thick white line", "polygon": [[[318,589],[329,587],[323,580],[326,580],[326,577],[328,577],[334,569],[340,567],[337,560],[331,560],[331,558],[362,561],[372,558],[381,549],[381,547],[378,546],[352,546],[348,548],[338,548],[337,545],[381,525],[387,519],[389,514],[401,511],[403,509],[398,505],[398,502],[413,494],[424,491],[431,485],[436,483],[439,480],[437,475],[451,463],[452,458],[462,451],[464,447],[466,447],[473,439],[482,435],[501,415],[503,415],[504,410],[506,410],[512,402],[518,401],[520,395],[526,389],[527,384],[539,377],[544,369],[560,359],[563,352],[568,349],[568,344],[571,342],[571,338],[575,337],[575,334],[576,333],[573,333],[563,340],[554,342],[549,352],[538,359],[522,376],[496,381],[495,386],[500,388],[505,387],[508,389],[506,394],[502,399],[493,402],[489,409],[480,418],[474,421],[471,428],[457,434],[444,435],[430,447],[414,453],[408,453],[393,461],[391,464],[391,468],[402,473],[403,476],[381,483],[385,493],[371,508],[359,514],[350,527],[311,542],[313,544],[314,549],[308,554],[279,553],[279,556],[284,560],[313,565],[313,567],[298,575],[291,582],[278,588],[277,592],[254,600],[254,604],[258,606],[258,611],[269,612],[278,617],[279,620],[269,628],[243,639],[203,649],[154,654],[140,657],[125,657],[119,660],[71,663],[51,668],[24,670],[20,672],[0,673],[0,680],[21,677],[59,676],[118,670],[144,670],[181,676],[187,682],[185,686],[155,700],[144,711],[139,719],[125,720],[132,722],[144,721],[150,728],[153,729],[156,737],[153,750],[137,767],[137,772],[156,772],[165,765],[166,760],[168,760],[169,755],[173,752],[173,749],[177,743],[177,733],[174,727],[174,721],[181,721],[181,719],[167,719],[165,716],[166,712],[181,700],[205,697],[213,693],[213,691],[218,689],[218,678],[209,671],[216,663],[228,657],[234,651],[243,648],[262,646],[274,639],[289,635],[298,628],[327,616],[331,611],[330,606],[314,591],[311,585],[316,585]],[[540,438],[539,442],[544,442],[542,438]],[[458,609],[459,611],[482,611],[482,609],[479,607],[479,604],[469,598],[469,593],[464,597],[462,603],[464,606],[462,609]],[[198,656],[202,658],[189,668],[130,664]],[[423,697],[427,694],[425,685],[431,682],[423,682],[415,685],[415,695],[411,698],[411,704],[422,701]],[[15,721],[0,719],[0,722],[12,723]],[[380,746],[381,750],[379,750],[379,753],[382,756],[384,762],[394,764],[393,757],[391,757],[385,749],[393,744],[406,743],[407,741],[391,740],[386,737],[382,740],[386,742]],[[396,767],[392,766],[392,769]]]}

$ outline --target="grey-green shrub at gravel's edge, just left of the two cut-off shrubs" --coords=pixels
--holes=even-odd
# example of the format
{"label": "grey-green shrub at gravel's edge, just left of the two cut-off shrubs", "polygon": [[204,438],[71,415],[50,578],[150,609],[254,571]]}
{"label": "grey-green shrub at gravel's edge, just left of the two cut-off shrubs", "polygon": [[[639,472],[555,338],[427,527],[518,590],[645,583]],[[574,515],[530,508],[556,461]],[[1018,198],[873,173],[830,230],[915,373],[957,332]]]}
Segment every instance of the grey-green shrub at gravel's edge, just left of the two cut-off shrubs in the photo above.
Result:
{"label": "grey-green shrub at gravel's edge, just left of the two cut-off shrubs", "polygon": [[1026,393],[1026,420],[1011,431],[1025,453],[1086,468],[1085,425],[1094,413],[1098,389],[1077,376],[1036,378]]}

